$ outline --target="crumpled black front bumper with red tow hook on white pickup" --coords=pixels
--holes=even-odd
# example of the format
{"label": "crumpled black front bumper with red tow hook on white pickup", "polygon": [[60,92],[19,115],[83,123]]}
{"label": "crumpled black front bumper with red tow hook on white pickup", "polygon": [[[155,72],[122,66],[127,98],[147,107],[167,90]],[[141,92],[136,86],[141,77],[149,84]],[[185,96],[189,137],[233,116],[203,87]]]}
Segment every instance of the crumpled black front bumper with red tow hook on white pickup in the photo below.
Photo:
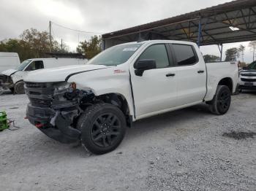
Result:
{"label": "crumpled black front bumper with red tow hook on white pickup", "polygon": [[[41,125],[38,129],[51,139],[64,144],[74,143],[80,139],[80,130],[70,126],[72,120],[67,117],[69,116],[67,112],[61,114],[61,112],[55,112],[50,108],[42,108],[28,104],[26,116],[32,125]],[[50,123],[52,119],[54,119],[55,125]]]}

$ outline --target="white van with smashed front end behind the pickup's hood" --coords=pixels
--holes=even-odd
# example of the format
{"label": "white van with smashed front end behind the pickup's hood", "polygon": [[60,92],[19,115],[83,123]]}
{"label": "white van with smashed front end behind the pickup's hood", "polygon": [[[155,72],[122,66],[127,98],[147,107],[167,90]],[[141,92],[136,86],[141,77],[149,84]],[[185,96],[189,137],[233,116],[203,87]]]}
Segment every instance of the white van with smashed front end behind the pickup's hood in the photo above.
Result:
{"label": "white van with smashed front end behind the pickup's hood", "polygon": [[2,71],[1,75],[4,76],[2,79],[1,87],[4,89],[9,88],[12,92],[22,94],[24,92],[23,79],[29,72],[38,69],[50,69],[60,66],[70,65],[83,65],[87,63],[85,58],[32,58],[23,61],[15,69],[9,69]]}

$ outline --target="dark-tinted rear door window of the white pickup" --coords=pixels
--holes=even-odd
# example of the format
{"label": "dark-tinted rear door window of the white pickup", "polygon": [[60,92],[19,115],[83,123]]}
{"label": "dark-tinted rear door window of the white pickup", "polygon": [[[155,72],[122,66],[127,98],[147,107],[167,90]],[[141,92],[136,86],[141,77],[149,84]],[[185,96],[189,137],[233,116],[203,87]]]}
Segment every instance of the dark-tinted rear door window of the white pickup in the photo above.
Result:
{"label": "dark-tinted rear door window of the white pickup", "polygon": [[173,44],[178,66],[192,65],[197,62],[197,57],[192,46],[185,44]]}

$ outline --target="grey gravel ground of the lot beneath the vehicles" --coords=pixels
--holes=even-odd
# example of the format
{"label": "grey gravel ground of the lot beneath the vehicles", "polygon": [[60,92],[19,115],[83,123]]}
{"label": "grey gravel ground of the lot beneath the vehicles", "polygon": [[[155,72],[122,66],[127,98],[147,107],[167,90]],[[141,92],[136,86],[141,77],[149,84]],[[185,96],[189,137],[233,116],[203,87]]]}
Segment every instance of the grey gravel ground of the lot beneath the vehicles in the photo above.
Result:
{"label": "grey gravel ground of the lot beneath the vehicles", "polygon": [[236,137],[256,132],[256,93],[233,96],[223,116],[199,105],[135,122],[100,156],[39,132],[23,119],[27,103],[0,96],[20,126],[0,132],[0,190],[256,190],[256,136]]}

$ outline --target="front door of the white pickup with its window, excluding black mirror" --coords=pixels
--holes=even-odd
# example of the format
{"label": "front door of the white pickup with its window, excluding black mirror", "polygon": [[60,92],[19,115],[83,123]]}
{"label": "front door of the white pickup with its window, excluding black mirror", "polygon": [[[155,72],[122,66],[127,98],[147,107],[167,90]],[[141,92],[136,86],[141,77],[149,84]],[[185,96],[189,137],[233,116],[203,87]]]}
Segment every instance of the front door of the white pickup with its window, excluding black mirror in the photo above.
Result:
{"label": "front door of the white pickup with its window, excluding black mirror", "polygon": [[153,59],[157,64],[142,77],[135,75],[133,65],[130,68],[136,117],[176,106],[176,68],[168,49],[167,44],[152,44],[141,53],[138,60]]}

